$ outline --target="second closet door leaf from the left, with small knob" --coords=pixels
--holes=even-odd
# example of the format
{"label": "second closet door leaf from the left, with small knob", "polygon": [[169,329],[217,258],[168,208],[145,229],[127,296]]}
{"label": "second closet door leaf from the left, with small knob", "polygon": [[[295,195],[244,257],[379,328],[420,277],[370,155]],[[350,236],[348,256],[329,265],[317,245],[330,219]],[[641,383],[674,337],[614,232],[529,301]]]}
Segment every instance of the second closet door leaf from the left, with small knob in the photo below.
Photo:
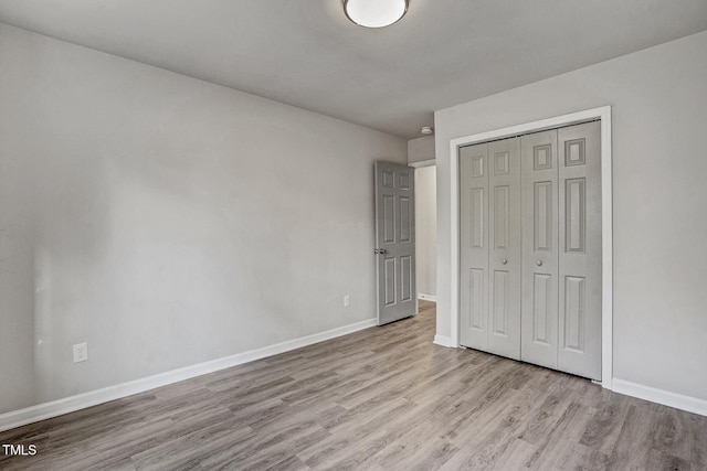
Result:
{"label": "second closet door leaf from the left, with small knob", "polygon": [[520,360],[520,140],[488,144],[488,352]]}

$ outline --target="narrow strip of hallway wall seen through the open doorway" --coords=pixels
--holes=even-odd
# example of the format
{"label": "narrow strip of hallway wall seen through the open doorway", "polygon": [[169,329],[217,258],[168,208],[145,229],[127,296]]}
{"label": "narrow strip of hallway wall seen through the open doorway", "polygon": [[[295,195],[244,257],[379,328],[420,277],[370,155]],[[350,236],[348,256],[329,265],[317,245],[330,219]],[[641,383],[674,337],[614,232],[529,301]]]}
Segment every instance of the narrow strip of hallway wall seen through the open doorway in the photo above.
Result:
{"label": "narrow strip of hallway wall seen through the open doorway", "polygon": [[437,293],[436,168],[415,169],[415,271],[418,293]]}

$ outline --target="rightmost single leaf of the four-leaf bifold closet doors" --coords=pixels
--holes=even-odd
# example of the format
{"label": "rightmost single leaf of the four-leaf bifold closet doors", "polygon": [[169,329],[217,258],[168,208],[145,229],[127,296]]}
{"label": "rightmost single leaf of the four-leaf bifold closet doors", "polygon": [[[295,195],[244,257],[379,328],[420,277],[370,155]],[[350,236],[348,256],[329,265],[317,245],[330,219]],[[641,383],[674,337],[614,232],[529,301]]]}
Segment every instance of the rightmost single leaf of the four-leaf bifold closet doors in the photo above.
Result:
{"label": "rightmost single leaf of the four-leaf bifold closet doors", "polygon": [[558,370],[601,379],[601,133],[599,122],[558,129]]}

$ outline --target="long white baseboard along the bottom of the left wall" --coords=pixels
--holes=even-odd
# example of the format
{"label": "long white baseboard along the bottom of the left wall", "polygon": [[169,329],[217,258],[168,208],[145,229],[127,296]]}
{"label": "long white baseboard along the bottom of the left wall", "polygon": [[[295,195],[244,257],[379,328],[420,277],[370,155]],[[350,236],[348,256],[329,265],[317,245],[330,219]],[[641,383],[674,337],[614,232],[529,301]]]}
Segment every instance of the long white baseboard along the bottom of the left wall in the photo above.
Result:
{"label": "long white baseboard along the bottom of the left wall", "polygon": [[86,407],[96,406],[109,400],[115,400],[122,397],[130,396],[133,394],[154,389],[156,387],[167,386],[180,381],[201,376],[208,373],[213,373],[219,370],[242,365],[243,363],[253,362],[266,356],[273,356],[279,353],[289,352],[292,350],[302,349],[303,346],[313,345],[325,340],[354,333],[377,324],[377,319],[369,319],[366,321],[356,322],[354,324],[344,325],[341,328],[331,329],[326,332],[319,332],[299,339],[276,343],[274,345],[264,346],[262,349],[238,353],[235,355],[212,360],[210,362],[200,363],[192,366],[186,366],[179,370],[172,370],[170,372],[135,379],[128,383],[104,387],[103,389],[65,397],[63,399],[52,400],[50,403],[39,404],[36,406],[27,407],[24,409],[13,410],[11,413],[0,415],[0,431],[9,430],[11,428],[36,422],[52,417],[57,417],[64,414],[73,413],[75,410],[85,409]]}

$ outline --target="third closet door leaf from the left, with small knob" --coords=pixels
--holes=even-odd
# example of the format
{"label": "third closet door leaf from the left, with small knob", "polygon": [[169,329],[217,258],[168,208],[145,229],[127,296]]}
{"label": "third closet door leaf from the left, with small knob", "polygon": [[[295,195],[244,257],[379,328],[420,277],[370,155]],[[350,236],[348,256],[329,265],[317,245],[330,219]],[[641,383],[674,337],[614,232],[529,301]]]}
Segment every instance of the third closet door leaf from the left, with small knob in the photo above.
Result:
{"label": "third closet door leaf from the left, with small knob", "polygon": [[520,357],[557,368],[557,130],[520,138],[523,170],[523,301]]}

